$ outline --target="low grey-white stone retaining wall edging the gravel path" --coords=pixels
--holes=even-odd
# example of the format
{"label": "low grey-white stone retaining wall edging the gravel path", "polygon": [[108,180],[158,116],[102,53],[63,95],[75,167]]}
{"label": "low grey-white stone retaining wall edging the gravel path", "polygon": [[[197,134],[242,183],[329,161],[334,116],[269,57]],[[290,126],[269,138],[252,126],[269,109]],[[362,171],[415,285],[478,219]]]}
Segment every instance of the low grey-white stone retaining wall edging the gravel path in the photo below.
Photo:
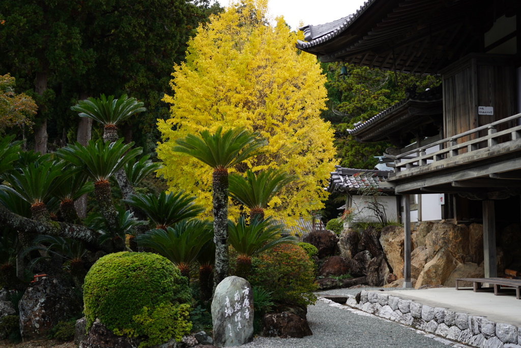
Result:
{"label": "low grey-white stone retaining wall edging the gravel path", "polygon": [[457,313],[403,300],[377,291],[362,290],[360,302],[348,305],[419,330],[480,348],[521,348],[521,328],[485,317]]}

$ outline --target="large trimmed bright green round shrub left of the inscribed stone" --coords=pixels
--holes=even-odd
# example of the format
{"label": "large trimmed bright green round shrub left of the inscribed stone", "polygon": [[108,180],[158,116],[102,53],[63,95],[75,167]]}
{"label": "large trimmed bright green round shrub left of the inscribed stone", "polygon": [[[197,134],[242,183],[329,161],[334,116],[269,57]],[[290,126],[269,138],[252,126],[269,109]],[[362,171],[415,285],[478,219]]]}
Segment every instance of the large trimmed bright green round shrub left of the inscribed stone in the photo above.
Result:
{"label": "large trimmed bright green round shrub left of the inscribed stone", "polygon": [[192,328],[188,280],[157,254],[103,256],[85,277],[83,301],[87,329],[99,318],[117,335],[142,339],[140,347],[179,341]]}

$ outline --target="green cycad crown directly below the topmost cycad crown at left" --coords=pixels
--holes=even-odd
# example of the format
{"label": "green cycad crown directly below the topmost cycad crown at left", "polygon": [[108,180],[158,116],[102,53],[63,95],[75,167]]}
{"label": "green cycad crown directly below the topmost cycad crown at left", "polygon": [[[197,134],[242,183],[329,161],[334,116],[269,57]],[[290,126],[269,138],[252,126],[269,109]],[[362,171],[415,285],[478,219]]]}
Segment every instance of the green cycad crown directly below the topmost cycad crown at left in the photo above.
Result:
{"label": "green cycad crown directly below the topmost cycad crown at left", "polygon": [[91,140],[87,146],[76,143],[60,148],[56,155],[80,168],[95,182],[103,181],[142,152],[141,147],[131,149],[134,143],[122,142],[123,139],[113,143]]}

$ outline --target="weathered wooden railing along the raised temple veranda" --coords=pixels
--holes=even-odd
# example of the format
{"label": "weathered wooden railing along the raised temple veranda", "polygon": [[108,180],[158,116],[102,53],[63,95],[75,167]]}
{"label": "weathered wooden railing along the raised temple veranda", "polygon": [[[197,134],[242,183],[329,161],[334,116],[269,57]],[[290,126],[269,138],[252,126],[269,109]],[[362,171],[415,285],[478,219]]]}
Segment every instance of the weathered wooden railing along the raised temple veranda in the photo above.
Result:
{"label": "weathered wooden railing along the raised temple veranda", "polygon": [[[491,148],[494,146],[503,146],[505,152],[509,151],[508,145],[511,142],[521,139],[521,126],[514,126],[508,129],[498,131],[498,126],[505,123],[515,121],[521,118],[521,114],[513,115],[498,121],[489,123],[488,125],[480,126],[468,130],[466,132],[450,136],[436,142],[414,148],[413,150],[404,152],[395,157],[394,161],[394,173],[398,176],[400,172],[406,171],[407,169],[413,169],[423,166],[436,166],[437,161],[444,159],[456,159],[454,157],[462,157],[465,155],[467,158],[472,157],[473,154],[477,155],[478,151],[482,151],[483,148]],[[480,131],[487,131],[487,135],[479,136]],[[469,138],[475,137],[475,139],[458,143],[458,139],[469,136]],[[500,139],[501,138],[501,139]],[[441,150],[427,154],[428,148],[440,145]],[[498,149],[498,150],[501,150]],[[499,154],[501,151],[499,151]],[[417,155],[411,158],[411,155]],[[441,164],[441,163],[440,163]]]}

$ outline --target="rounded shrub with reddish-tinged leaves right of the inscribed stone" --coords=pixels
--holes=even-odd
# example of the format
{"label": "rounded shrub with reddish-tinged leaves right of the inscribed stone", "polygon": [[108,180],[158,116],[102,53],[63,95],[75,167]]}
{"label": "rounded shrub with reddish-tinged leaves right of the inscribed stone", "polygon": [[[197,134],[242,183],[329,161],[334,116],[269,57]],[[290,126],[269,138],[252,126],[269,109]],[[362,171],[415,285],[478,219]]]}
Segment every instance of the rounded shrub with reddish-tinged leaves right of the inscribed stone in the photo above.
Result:
{"label": "rounded shrub with reddish-tinged leaves right of the inscribed stone", "polygon": [[315,266],[304,249],[298,245],[281,244],[252,257],[249,281],[253,287],[271,292],[273,301],[307,306],[317,296]]}

